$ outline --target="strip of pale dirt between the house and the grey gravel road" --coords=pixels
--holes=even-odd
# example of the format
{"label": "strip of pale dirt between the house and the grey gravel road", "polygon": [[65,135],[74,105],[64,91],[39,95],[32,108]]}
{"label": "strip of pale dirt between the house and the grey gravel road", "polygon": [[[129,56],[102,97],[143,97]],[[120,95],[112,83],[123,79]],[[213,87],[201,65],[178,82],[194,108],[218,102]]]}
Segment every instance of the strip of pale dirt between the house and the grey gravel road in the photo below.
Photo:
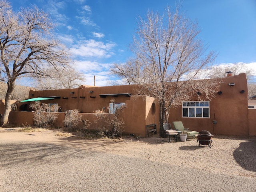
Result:
{"label": "strip of pale dirt between the house and the grey gravel road", "polygon": [[[163,162],[210,172],[225,172],[256,178],[256,137],[214,135],[213,146],[199,146],[196,139],[186,142],[151,135],[149,138],[128,136],[122,139],[81,139],[74,134],[57,136],[59,130],[19,132],[19,128],[0,128],[0,140],[52,143],[93,152],[106,152]],[[89,139],[88,139],[89,138]]]}

